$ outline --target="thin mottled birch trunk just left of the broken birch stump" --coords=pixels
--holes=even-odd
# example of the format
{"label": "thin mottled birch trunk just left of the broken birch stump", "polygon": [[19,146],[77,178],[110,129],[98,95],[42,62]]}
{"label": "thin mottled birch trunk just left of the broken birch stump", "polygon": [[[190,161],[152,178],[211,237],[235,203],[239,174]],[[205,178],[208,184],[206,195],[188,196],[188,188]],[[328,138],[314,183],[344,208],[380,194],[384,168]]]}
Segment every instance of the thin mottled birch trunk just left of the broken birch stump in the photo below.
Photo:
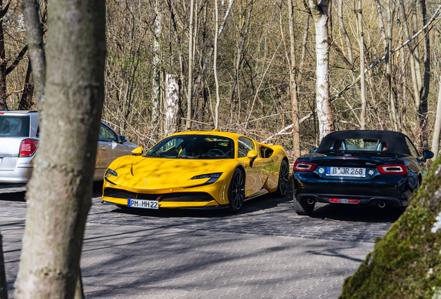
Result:
{"label": "thin mottled birch trunk just left of the broken birch stump", "polygon": [[153,82],[152,82],[152,120],[156,122],[159,118],[159,106],[161,102],[161,76],[159,70],[160,57],[160,47],[159,39],[161,38],[161,15],[159,13],[161,6],[159,0],[155,1],[155,23],[153,28]]}

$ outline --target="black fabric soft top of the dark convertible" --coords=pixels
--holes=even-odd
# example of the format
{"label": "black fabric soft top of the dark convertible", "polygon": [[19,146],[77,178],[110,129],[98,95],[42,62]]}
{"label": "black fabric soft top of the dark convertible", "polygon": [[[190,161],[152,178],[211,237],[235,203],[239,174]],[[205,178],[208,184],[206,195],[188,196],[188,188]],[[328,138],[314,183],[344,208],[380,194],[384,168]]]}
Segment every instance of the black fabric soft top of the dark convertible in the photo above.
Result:
{"label": "black fabric soft top of the dark convertible", "polygon": [[399,132],[379,130],[347,130],[328,134],[323,138],[317,152],[329,152],[329,147],[331,147],[334,141],[349,138],[386,141],[388,148],[383,151],[384,153],[410,155],[410,149],[406,143],[406,135]]}

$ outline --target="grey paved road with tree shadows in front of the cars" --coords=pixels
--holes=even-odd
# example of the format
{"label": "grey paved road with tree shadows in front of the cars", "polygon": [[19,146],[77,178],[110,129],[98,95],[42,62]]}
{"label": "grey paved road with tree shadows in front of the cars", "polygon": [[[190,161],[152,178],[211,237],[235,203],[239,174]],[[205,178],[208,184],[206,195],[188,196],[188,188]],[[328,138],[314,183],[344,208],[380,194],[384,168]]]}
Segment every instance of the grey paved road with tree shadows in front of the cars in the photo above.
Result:
{"label": "grey paved road with tree shadows in front of the cars", "polygon": [[[10,298],[17,275],[24,187],[0,185],[0,230]],[[96,184],[81,268],[86,298],[338,298],[376,237],[401,210],[315,207],[297,216],[292,194],[223,210],[120,209]]]}

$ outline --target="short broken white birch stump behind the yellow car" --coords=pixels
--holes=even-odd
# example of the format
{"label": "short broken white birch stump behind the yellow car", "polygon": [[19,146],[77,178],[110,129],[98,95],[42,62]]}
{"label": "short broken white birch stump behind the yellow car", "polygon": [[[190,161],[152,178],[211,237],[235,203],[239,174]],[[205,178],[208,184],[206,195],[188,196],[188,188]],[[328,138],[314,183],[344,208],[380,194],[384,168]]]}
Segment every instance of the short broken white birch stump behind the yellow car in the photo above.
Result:
{"label": "short broken white birch stump behind the yellow car", "polygon": [[165,132],[168,136],[177,131],[180,123],[180,84],[178,75],[166,75]]}

